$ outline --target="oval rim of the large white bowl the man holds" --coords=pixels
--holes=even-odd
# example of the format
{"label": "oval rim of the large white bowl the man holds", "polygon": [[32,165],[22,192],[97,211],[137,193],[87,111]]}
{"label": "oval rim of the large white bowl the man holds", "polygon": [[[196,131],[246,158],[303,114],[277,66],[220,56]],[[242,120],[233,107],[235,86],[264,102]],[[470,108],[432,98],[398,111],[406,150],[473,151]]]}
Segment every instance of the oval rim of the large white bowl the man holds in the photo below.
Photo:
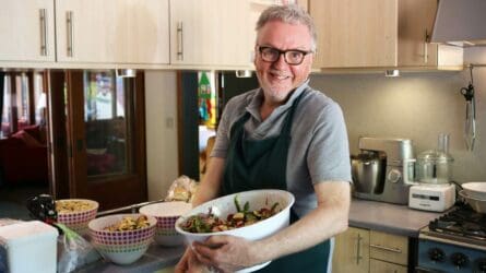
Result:
{"label": "oval rim of the large white bowl the man holds", "polygon": [[269,222],[270,219],[272,219],[272,218],[275,217],[276,215],[281,215],[282,213],[284,213],[284,211],[289,210],[289,209],[294,205],[294,203],[295,203],[295,197],[294,197],[294,194],[293,194],[292,192],[289,192],[289,191],[286,191],[286,190],[278,190],[278,189],[262,189],[262,190],[249,190],[249,191],[236,192],[236,193],[232,193],[232,194],[227,194],[227,195],[223,195],[223,197],[220,197],[220,198],[210,200],[210,201],[204,202],[204,203],[202,203],[202,204],[200,204],[200,205],[198,205],[198,206],[192,207],[191,211],[189,211],[187,214],[180,216],[180,217],[176,221],[176,223],[175,223],[176,232],[179,233],[179,234],[181,234],[181,235],[185,235],[185,236],[188,235],[188,236],[197,236],[197,237],[208,237],[208,236],[213,236],[213,235],[214,235],[214,236],[215,236],[215,235],[226,235],[226,234],[233,233],[234,230],[244,230],[244,229],[248,229],[248,228],[253,227],[253,225],[249,225],[249,226],[242,226],[242,227],[237,227],[237,228],[229,229],[229,230],[215,232],[215,233],[189,233],[189,232],[183,230],[183,229],[179,226],[180,223],[181,223],[182,221],[185,221],[186,218],[188,218],[188,217],[194,215],[193,211],[197,210],[197,209],[199,209],[200,206],[206,205],[208,203],[211,203],[211,202],[215,202],[215,201],[217,201],[217,200],[220,200],[220,199],[229,198],[229,197],[234,197],[234,195],[236,195],[236,194],[241,194],[241,193],[247,193],[247,192],[262,192],[262,193],[263,193],[263,192],[281,192],[281,193],[284,193],[284,194],[286,194],[286,195],[289,197],[289,202],[288,202],[288,204],[287,204],[284,209],[282,209],[278,213],[272,215],[271,217],[265,218],[265,219],[262,219],[262,221],[259,221],[259,222],[256,223],[256,224],[260,224],[260,223],[266,223],[266,222]]}

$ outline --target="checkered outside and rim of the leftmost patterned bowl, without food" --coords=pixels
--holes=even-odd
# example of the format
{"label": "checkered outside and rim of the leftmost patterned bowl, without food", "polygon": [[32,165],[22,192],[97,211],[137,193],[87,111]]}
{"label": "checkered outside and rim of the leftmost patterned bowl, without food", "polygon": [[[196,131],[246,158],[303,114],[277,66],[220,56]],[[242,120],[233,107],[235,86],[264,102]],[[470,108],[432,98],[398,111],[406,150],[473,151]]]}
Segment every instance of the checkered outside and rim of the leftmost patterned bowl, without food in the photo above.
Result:
{"label": "checkered outside and rim of the leftmost patterned bowl, without food", "polygon": [[88,199],[63,199],[57,200],[56,202],[67,202],[67,201],[82,201],[92,204],[90,210],[69,212],[69,213],[58,213],[58,223],[64,224],[67,227],[79,234],[87,233],[87,223],[96,217],[98,212],[98,202]]}

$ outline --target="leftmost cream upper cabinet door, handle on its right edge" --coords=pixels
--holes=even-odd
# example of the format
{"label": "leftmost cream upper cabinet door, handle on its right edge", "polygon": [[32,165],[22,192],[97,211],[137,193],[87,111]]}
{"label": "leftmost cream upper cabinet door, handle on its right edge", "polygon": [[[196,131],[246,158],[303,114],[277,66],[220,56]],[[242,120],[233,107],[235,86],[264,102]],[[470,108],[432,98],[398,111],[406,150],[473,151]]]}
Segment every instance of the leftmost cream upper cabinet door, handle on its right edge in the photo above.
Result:
{"label": "leftmost cream upper cabinet door, handle on its right edge", "polygon": [[0,9],[1,61],[55,61],[54,0],[5,0]]}

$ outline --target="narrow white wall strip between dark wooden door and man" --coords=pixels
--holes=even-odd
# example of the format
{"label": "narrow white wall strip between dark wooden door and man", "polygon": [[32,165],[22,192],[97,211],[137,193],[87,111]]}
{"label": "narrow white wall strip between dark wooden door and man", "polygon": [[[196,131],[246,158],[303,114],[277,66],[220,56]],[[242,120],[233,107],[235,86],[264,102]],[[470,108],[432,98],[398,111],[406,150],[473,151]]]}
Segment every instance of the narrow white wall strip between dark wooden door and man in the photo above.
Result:
{"label": "narrow white wall strip between dark wooden door and man", "polygon": [[176,72],[145,71],[149,200],[163,199],[178,177]]}

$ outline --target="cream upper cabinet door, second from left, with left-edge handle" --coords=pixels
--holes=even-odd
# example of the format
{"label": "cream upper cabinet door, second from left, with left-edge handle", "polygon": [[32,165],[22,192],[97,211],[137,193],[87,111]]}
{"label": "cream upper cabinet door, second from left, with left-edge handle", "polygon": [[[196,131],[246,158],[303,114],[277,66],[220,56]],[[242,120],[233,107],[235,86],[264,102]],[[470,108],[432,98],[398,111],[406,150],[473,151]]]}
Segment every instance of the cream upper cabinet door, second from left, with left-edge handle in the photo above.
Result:
{"label": "cream upper cabinet door, second from left, with left-edge handle", "polygon": [[56,0],[58,61],[168,63],[168,0]]}

